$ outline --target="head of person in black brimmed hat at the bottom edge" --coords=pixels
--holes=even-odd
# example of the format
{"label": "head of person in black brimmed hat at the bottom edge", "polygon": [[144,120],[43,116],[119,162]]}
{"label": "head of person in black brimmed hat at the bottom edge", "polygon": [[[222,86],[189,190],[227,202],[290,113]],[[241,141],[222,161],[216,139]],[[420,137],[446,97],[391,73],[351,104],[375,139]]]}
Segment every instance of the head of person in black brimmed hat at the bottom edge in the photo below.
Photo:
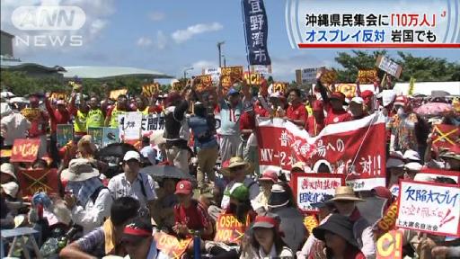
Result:
{"label": "head of person in black brimmed hat at the bottom edge", "polygon": [[313,229],[314,237],[326,244],[326,258],[366,259],[353,237],[353,222],[346,216],[333,214]]}

